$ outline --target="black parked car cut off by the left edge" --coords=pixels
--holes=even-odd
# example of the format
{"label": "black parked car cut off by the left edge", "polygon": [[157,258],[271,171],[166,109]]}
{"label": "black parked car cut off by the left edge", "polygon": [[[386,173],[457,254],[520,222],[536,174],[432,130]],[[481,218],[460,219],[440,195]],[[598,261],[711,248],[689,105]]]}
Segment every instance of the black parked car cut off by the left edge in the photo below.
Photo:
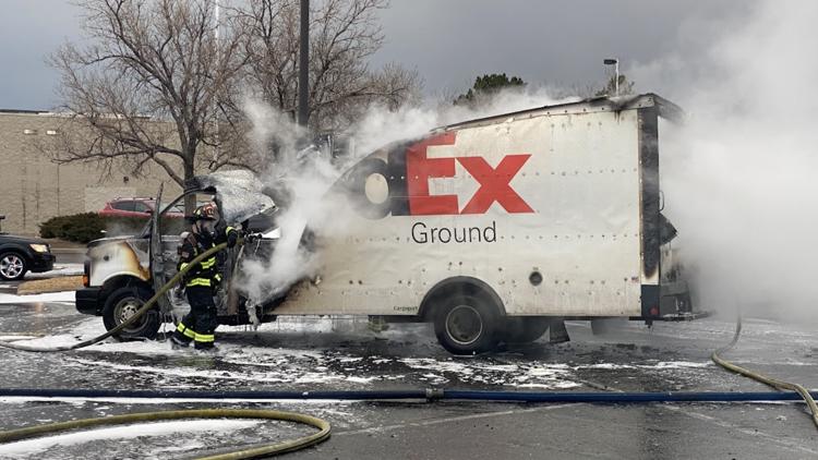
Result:
{"label": "black parked car cut off by the left edge", "polygon": [[56,259],[43,241],[0,233],[0,279],[11,281],[27,271],[50,271]]}

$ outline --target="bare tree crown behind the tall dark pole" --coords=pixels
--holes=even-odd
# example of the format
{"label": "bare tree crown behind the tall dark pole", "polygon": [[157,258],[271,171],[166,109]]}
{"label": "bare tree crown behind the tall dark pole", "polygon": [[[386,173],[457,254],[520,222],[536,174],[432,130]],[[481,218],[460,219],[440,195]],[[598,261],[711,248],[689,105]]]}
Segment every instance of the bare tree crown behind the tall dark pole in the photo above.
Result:
{"label": "bare tree crown behind the tall dark pole", "polygon": [[[310,12],[310,128],[347,128],[372,104],[397,108],[417,96],[417,72],[368,60],[384,36],[385,0],[325,0]],[[298,109],[299,0],[256,0],[241,9],[249,44],[244,84],[276,109]]]}

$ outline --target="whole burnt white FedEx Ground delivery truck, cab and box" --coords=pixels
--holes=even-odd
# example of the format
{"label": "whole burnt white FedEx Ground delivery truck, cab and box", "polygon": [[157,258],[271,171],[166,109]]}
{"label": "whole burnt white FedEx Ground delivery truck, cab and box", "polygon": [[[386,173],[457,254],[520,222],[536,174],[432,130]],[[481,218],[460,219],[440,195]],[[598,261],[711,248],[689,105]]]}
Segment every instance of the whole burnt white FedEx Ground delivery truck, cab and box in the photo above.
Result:
{"label": "whole burnt white FedEx Ground delivery truck, cab and box", "polygon": [[[536,340],[549,327],[553,334],[562,318],[694,318],[701,312],[670,249],[676,230],[660,213],[660,117],[673,121],[681,110],[653,94],[596,98],[443,126],[378,149],[327,192],[342,217],[337,227],[302,239],[317,271],[250,313],[230,283],[220,320],[431,322],[444,348],[470,354]],[[253,208],[224,196],[236,181],[200,182],[228,221],[274,207],[258,185],[241,185],[242,196],[258,196]],[[92,243],[77,308],[109,326],[169,279],[178,237],[159,237],[159,228]],[[268,237],[229,255],[228,279],[240,276],[243,257],[275,257]],[[117,269],[101,268],[113,261]],[[168,308],[129,334],[155,335]]]}

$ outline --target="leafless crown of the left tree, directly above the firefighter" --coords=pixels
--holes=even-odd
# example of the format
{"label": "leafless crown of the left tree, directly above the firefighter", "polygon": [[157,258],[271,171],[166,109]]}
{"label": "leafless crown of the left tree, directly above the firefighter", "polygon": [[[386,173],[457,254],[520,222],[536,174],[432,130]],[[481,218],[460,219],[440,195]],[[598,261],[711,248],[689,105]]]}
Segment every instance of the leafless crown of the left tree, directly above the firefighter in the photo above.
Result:
{"label": "leafless crown of the left tree, directly above the firefighter", "polygon": [[[243,165],[218,148],[229,135],[218,132],[220,99],[246,56],[232,16],[217,25],[208,0],[79,5],[87,45],[67,44],[50,58],[62,75],[62,109],[77,128],[62,130],[57,161],[128,165],[134,174],[154,164],[181,186],[197,169]],[[200,158],[205,148],[213,155]]]}

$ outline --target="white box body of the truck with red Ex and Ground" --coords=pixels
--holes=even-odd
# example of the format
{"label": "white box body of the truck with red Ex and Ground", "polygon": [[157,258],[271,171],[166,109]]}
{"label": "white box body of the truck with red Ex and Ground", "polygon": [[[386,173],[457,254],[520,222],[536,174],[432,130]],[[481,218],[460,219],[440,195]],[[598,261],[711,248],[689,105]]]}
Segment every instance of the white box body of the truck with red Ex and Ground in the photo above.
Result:
{"label": "white box body of the truck with red Ex and Ground", "polygon": [[316,243],[321,282],[275,313],[418,315],[470,278],[510,316],[650,316],[660,106],[675,110],[654,95],[544,107],[372,154],[335,187],[351,196]]}

